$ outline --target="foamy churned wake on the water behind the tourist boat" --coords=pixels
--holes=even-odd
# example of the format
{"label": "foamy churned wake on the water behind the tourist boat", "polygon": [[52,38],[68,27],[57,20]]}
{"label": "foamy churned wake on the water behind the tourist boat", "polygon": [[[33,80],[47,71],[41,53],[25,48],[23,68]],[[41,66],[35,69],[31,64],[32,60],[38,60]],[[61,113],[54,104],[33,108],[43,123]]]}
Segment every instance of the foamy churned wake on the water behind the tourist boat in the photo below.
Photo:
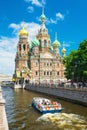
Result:
{"label": "foamy churned wake on the water behind the tourist boat", "polygon": [[45,114],[37,121],[44,125],[50,124],[53,130],[87,130],[86,121],[76,114]]}

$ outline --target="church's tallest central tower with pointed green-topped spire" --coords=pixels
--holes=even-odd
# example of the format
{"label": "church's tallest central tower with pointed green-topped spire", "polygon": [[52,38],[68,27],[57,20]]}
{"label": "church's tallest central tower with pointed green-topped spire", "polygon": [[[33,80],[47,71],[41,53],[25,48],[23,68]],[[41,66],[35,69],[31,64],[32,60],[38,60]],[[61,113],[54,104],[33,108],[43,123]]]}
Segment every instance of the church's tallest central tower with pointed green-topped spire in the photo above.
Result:
{"label": "church's tallest central tower with pointed green-topped spire", "polygon": [[38,31],[37,39],[40,43],[40,51],[44,52],[50,48],[50,36],[48,34],[48,29],[45,26],[46,16],[44,15],[44,9],[42,10],[41,19],[41,27]]}

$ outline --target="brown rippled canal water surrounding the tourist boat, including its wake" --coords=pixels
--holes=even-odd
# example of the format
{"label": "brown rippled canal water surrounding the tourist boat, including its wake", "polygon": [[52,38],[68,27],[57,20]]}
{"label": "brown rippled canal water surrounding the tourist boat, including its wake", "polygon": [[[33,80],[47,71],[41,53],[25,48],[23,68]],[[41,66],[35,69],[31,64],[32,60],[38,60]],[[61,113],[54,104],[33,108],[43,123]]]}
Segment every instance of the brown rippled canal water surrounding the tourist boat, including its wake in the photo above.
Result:
{"label": "brown rippled canal water surrounding the tourist boat, including its wake", "polygon": [[[2,92],[9,130],[87,130],[87,107],[22,89],[3,87]],[[41,115],[31,106],[37,96],[60,102],[63,111]]]}

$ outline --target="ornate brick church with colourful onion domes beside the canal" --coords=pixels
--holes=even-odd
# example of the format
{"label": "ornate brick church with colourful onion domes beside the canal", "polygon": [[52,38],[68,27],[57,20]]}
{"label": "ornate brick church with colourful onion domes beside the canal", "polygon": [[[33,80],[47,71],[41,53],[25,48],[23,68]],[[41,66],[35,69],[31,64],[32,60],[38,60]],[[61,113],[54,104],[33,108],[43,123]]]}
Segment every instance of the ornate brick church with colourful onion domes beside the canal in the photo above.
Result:
{"label": "ornate brick church with colourful onion domes beside the canal", "polygon": [[34,84],[58,84],[66,80],[62,63],[66,49],[62,48],[61,56],[57,34],[51,43],[43,11],[40,20],[40,29],[31,43],[28,42],[28,31],[24,27],[19,32],[14,75],[16,81],[23,79]]}

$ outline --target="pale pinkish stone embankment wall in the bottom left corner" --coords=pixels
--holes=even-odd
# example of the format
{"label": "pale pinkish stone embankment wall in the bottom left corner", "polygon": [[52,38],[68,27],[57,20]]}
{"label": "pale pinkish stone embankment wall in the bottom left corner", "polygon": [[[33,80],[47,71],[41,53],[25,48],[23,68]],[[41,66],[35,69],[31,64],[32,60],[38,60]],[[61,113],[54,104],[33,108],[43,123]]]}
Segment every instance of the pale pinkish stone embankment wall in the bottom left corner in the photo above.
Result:
{"label": "pale pinkish stone embankment wall in the bottom left corner", "polygon": [[0,130],[9,130],[5,111],[5,100],[3,99],[2,96],[1,86],[0,86]]}

